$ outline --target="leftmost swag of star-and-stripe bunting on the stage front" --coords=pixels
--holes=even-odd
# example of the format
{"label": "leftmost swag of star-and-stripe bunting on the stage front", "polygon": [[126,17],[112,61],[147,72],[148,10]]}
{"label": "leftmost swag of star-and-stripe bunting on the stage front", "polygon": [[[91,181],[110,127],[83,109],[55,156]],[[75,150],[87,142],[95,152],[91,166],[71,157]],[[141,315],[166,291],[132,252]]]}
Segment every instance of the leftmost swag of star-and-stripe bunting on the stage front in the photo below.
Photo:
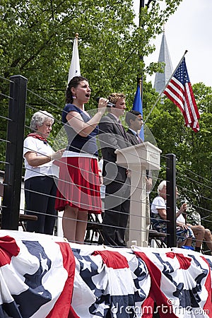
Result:
{"label": "leftmost swag of star-and-stripe bunting on the stage front", "polygon": [[[0,237],[0,318],[73,318],[75,259],[67,242],[49,235]],[[8,316],[7,316],[7,315]]]}

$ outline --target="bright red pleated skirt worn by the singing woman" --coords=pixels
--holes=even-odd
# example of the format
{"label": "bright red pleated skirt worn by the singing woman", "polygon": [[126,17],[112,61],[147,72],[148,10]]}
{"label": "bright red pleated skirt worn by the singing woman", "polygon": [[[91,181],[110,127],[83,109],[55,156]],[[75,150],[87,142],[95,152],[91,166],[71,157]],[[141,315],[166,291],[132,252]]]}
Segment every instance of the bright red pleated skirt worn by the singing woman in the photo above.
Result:
{"label": "bright red pleated skirt worn by the singing woman", "polygon": [[85,157],[64,157],[59,163],[59,180],[55,208],[66,205],[89,213],[102,213],[98,160]]}

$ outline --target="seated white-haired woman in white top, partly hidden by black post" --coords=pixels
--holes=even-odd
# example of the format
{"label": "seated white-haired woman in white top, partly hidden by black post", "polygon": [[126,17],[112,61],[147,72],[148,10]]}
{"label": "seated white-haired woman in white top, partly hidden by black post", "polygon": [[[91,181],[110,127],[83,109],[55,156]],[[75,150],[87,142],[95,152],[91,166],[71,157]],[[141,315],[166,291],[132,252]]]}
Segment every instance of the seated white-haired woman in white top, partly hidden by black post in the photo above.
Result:
{"label": "seated white-haired woman in white top, partly hidden by black post", "polygon": [[[184,204],[177,210],[176,218],[184,213]],[[151,204],[151,217],[154,230],[158,232],[167,232],[167,214],[166,214],[166,181],[160,182],[158,185],[158,196],[153,199]],[[187,225],[177,222],[177,247],[182,245],[191,246],[192,240],[194,239],[194,233]]]}

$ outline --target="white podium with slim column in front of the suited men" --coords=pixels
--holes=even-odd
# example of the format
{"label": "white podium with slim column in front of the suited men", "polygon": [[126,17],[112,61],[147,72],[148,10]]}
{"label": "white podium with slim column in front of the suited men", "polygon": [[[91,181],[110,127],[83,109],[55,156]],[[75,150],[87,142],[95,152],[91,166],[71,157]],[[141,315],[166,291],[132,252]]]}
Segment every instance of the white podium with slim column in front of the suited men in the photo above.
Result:
{"label": "white podium with slim column in front of the suited men", "polygon": [[146,231],[146,170],[160,170],[162,151],[146,141],[135,146],[117,149],[117,165],[130,170],[131,200],[128,246],[147,247]]}

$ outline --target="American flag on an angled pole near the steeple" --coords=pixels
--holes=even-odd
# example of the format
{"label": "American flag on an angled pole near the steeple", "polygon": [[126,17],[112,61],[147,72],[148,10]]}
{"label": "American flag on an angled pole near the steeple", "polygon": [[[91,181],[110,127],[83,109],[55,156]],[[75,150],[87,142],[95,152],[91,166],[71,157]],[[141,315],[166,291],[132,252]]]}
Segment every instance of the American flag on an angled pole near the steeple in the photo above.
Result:
{"label": "American flag on an angled pole near the steeple", "polygon": [[184,58],[163,93],[179,107],[184,117],[185,126],[191,127],[195,132],[199,131],[199,111]]}

